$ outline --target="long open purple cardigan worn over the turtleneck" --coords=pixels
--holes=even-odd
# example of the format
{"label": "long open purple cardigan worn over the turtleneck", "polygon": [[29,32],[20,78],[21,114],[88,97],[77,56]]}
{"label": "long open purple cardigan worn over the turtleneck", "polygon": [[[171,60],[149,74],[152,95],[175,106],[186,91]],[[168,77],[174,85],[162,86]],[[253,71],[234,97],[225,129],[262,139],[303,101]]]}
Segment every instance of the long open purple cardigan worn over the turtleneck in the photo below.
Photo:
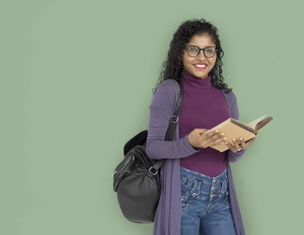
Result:
{"label": "long open purple cardigan worn over the turtleneck", "polygon": [[[222,90],[222,92],[232,117],[239,120],[235,94],[232,91],[225,93]],[[167,159],[162,166],[162,191],[156,211],[153,235],[180,235],[181,187],[179,159],[188,157],[198,151],[189,144],[187,135],[180,139],[178,138],[178,122],[173,141],[165,141],[169,120],[175,109],[178,95],[179,85],[177,81],[173,79],[165,80],[155,91],[149,107],[146,153],[150,159]],[[237,235],[245,235],[245,231],[229,162],[239,161],[244,152],[233,153],[231,150],[227,151],[229,195]]]}

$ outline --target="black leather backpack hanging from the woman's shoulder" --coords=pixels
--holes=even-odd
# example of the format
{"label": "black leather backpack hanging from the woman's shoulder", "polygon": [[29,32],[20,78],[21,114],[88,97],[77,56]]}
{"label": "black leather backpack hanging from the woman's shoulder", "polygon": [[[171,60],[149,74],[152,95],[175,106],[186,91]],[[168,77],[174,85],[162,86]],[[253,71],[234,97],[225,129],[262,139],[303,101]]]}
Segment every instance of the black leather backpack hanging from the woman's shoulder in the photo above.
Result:
{"label": "black leather backpack hanging from the woman's shoulder", "polygon": [[[183,99],[183,85],[175,111],[170,119],[166,140],[173,140]],[[148,131],[131,138],[124,146],[124,160],[113,173],[113,190],[117,192],[119,206],[130,222],[153,223],[161,194],[161,166],[166,159],[149,159],[145,151]]]}

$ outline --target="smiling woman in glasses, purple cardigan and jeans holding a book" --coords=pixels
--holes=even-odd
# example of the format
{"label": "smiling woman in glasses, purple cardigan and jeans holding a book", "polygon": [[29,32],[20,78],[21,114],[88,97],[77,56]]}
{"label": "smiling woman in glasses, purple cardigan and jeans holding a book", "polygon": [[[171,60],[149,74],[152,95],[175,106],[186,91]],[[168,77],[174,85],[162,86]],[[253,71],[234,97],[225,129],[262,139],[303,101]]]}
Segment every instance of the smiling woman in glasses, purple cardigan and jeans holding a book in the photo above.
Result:
{"label": "smiling woman in glasses, purple cardigan and jeans holding a book", "polygon": [[[147,155],[166,158],[154,235],[245,234],[229,162],[240,160],[254,138],[234,138],[233,147],[218,130],[202,135],[230,117],[239,119],[236,96],[222,76],[224,53],[217,32],[204,19],[179,26],[150,104]],[[178,82],[184,87],[183,101],[174,140],[169,142],[165,136]],[[210,148],[218,144],[229,150]]]}

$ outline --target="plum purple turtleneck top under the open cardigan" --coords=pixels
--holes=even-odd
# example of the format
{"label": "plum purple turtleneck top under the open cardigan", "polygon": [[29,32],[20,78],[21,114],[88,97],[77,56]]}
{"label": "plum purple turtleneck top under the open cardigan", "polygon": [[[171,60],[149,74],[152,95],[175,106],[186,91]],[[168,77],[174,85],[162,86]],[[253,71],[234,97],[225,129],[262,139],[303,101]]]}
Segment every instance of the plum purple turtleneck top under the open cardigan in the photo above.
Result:
{"label": "plum purple turtleneck top under the open cardigan", "polygon": [[[222,91],[211,85],[210,75],[201,79],[184,71],[182,84],[184,94],[179,114],[179,138],[195,128],[211,129],[232,117]],[[227,168],[226,151],[221,153],[210,147],[202,148],[181,158],[180,166],[215,177]]]}

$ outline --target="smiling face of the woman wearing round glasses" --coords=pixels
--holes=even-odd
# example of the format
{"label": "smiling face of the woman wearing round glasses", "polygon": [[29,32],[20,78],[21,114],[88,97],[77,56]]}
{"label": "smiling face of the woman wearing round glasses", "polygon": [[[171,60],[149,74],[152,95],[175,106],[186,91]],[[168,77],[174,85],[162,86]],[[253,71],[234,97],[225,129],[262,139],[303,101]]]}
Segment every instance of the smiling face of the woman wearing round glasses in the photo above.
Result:
{"label": "smiling face of the woman wearing round glasses", "polygon": [[[207,48],[208,46],[213,46],[214,48],[216,48],[214,41],[206,33],[194,35],[191,40],[186,43],[185,48],[188,48],[191,45],[197,46],[200,49]],[[207,55],[207,52],[205,53]],[[188,55],[188,52],[184,50],[182,64],[187,72],[191,73],[196,77],[204,79],[208,77],[208,74],[214,67],[215,61],[216,54],[212,58],[207,58],[204,55],[203,51],[200,51],[200,54],[197,57],[191,57]]]}

